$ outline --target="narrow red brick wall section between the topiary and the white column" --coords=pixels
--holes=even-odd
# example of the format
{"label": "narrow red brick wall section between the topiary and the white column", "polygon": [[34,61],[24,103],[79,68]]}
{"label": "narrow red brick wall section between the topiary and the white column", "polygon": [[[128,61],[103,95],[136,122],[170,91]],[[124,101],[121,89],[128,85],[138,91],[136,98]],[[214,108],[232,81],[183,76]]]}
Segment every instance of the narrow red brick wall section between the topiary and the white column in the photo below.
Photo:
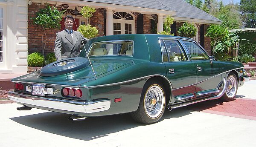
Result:
{"label": "narrow red brick wall section between the topiary and the white column", "polygon": [[[94,12],[93,16],[90,18],[90,25],[95,26],[98,29],[99,36],[104,36],[104,15],[99,9],[96,9],[96,12]],[[99,28],[99,26],[102,27]]]}

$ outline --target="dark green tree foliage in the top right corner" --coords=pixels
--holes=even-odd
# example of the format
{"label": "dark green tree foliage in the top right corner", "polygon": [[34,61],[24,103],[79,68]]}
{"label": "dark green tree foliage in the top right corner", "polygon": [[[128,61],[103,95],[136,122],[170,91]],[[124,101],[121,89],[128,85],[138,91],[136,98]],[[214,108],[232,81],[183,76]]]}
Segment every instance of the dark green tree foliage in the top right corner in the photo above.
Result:
{"label": "dark green tree foliage in the top right corner", "polygon": [[256,27],[256,0],[241,0],[240,10],[246,20],[244,26],[247,28]]}

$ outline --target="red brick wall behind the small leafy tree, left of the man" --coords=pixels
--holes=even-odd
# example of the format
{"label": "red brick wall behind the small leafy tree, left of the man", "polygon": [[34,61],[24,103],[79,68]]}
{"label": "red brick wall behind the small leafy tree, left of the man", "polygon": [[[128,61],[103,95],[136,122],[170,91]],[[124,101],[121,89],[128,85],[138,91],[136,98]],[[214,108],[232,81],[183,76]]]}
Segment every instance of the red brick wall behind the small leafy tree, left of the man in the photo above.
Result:
{"label": "red brick wall behind the small leafy tree, left of the man", "polygon": [[[33,52],[42,52],[43,44],[42,37],[44,37],[43,29],[39,28],[37,25],[32,23],[31,18],[35,17],[35,14],[40,10],[46,8],[47,4],[42,5],[41,3],[32,3],[28,5],[28,46],[29,46],[29,54]],[[57,7],[56,5],[49,4],[49,6]],[[56,33],[60,30],[56,29],[47,29],[47,44],[45,47],[45,55],[50,52],[54,52],[54,41],[56,38]]]}

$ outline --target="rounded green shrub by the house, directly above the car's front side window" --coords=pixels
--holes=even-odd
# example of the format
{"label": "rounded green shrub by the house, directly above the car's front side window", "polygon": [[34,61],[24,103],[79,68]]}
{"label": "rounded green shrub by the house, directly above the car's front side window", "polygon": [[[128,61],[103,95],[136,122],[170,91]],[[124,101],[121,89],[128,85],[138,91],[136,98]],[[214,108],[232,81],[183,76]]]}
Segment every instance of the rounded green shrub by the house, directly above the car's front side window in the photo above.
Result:
{"label": "rounded green shrub by the house, directly above the car's front side window", "polygon": [[197,29],[192,23],[183,23],[182,26],[180,26],[178,33],[180,36],[183,37],[195,37]]}

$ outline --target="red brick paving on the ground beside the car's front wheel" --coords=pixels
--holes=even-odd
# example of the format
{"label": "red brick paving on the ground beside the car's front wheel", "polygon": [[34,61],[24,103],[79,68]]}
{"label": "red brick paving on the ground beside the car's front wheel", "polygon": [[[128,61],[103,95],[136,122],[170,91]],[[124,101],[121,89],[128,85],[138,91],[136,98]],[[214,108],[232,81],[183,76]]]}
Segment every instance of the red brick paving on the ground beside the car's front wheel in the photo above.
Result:
{"label": "red brick paving on the ground beside the car's front wheel", "polygon": [[256,99],[236,98],[234,101],[204,101],[185,107],[189,110],[256,120]]}

